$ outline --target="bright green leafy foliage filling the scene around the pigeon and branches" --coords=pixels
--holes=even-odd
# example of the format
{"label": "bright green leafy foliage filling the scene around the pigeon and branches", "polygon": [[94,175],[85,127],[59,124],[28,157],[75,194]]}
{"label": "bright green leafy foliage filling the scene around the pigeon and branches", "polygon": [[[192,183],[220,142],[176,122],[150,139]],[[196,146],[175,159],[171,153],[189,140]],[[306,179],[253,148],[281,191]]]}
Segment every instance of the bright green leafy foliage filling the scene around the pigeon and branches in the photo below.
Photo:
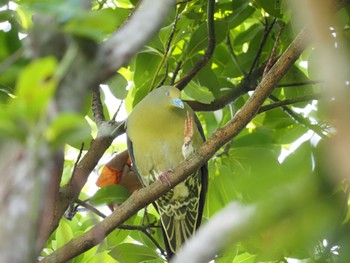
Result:
{"label": "bright green leafy foliage filling the scene around the pigeon and branches", "polygon": [[[80,98],[81,106],[75,112],[53,101],[60,100],[59,87],[71,70],[77,45],[93,56],[95,45],[128,23],[138,1],[92,1],[91,8],[83,8],[83,2],[0,1],[0,147],[9,141],[33,148],[45,141],[51,151],[64,146],[61,187],[74,173],[82,143],[84,155],[101,129],[96,114],[93,116],[91,90]],[[113,119],[119,106],[130,112],[159,85],[181,86],[184,76],[194,69],[193,78],[181,87],[182,94],[186,100],[202,103],[194,108],[209,138],[239,111],[269,67],[266,64],[286,50],[302,27],[293,20],[297,13],[286,1],[218,0],[212,10],[215,49],[210,56],[207,5],[204,0],[178,1],[146,45],[111,79],[100,83],[104,85],[100,96],[105,120]],[[345,49],[350,40],[349,12],[349,7],[338,10],[339,23],[327,29],[334,43],[341,35]],[[45,29],[35,25],[33,14],[37,13],[45,14]],[[45,30],[55,32],[58,39],[68,39],[61,54],[57,49],[51,52],[51,42],[41,46],[45,50],[33,46],[41,38],[45,41]],[[348,182],[337,176],[327,155],[336,130],[329,118],[329,100],[322,95],[328,87],[319,73],[317,52],[315,46],[308,46],[264,102],[272,107],[263,107],[209,161],[204,221],[232,201],[261,204],[266,212],[259,214],[265,227],[248,233],[240,242],[228,243],[214,262],[346,262],[350,256]],[[203,57],[208,62],[199,70],[196,64]],[[284,102],[283,106],[278,102]],[[53,113],[56,106],[58,114]],[[126,117],[122,112],[117,112],[118,120]],[[80,192],[80,200],[94,195],[99,169],[126,144],[119,139],[107,148]],[[94,196],[92,204],[108,213],[100,203],[111,199],[119,203],[128,196],[123,188],[111,188]],[[278,220],[270,216],[284,205],[290,208]],[[100,245],[70,262],[163,262],[157,248],[163,245],[161,234],[153,227],[158,216],[151,207],[147,211],[148,222],[144,211],[139,211]],[[41,257],[103,220],[90,210],[70,219],[60,220]]]}

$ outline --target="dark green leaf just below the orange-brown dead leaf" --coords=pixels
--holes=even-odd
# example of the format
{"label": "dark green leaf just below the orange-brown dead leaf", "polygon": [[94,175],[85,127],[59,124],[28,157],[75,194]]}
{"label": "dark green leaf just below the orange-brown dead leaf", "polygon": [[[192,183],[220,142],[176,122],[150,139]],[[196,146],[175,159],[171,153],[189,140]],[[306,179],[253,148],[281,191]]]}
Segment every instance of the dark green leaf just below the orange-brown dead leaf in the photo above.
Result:
{"label": "dark green leaf just below the orange-brown dead leaf", "polygon": [[128,199],[130,192],[121,185],[107,185],[100,188],[90,198],[90,203],[93,205],[99,204],[120,204]]}

